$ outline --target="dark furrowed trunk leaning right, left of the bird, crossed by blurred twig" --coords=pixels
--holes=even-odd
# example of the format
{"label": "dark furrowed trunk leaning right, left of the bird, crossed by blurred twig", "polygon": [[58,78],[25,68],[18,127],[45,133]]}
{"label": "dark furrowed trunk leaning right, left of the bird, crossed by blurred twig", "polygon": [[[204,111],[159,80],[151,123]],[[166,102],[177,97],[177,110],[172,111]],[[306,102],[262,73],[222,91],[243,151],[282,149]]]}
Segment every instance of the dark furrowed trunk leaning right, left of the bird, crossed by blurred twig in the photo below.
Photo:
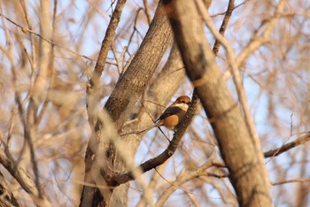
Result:
{"label": "dark furrowed trunk leaning right, left of the bird, crossed by blurred twig", "polygon": [[[128,66],[128,70],[121,75],[120,80],[112,91],[112,95],[105,103],[105,110],[111,116],[112,121],[116,123],[116,128],[118,130],[123,126],[125,120],[128,119],[128,115],[130,115],[137,99],[142,96],[147,83],[151,79],[152,73],[154,73],[156,67],[159,65],[160,59],[171,42],[172,31],[162,6],[159,4],[149,31],[143,39],[139,50],[137,50],[135,58]],[[109,137],[109,134],[104,133],[106,132],[106,130],[104,130],[106,127],[105,125],[107,125],[107,123],[105,123],[104,120],[97,121],[89,140],[85,156],[85,181],[87,183],[97,183],[97,176],[91,173],[94,169],[97,172],[101,169],[103,174],[106,175],[106,179],[109,173],[122,172],[126,168],[123,159],[118,157],[118,149],[115,148],[114,141],[112,141],[116,139],[116,137]],[[130,149],[128,150],[130,151]],[[98,156],[100,151],[101,156],[104,157]],[[102,151],[104,151],[104,153],[102,153]],[[100,159],[99,162],[97,157]],[[102,165],[101,167],[93,166],[100,162]],[[104,185],[109,185],[105,180],[101,181]],[[84,186],[80,205],[109,206],[111,205],[111,200],[113,200],[112,192],[113,189]],[[123,193],[121,194],[123,195]],[[118,197],[120,197],[120,195],[118,195]],[[115,203],[126,205],[127,199],[123,200],[125,203],[121,202],[121,199],[119,202]]]}

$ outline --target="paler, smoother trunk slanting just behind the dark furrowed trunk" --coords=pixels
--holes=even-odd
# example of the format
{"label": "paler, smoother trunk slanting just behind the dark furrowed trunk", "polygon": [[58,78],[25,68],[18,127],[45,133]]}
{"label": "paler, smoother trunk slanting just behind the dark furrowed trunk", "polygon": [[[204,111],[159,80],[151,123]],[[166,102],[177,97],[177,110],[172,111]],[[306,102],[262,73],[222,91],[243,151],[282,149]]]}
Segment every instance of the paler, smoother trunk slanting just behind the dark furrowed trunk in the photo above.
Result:
{"label": "paler, smoother trunk slanting just behind the dark furrowed trunk", "polygon": [[[146,95],[143,96],[143,100],[146,100],[147,102],[143,102],[143,106],[141,106],[140,110],[137,110],[137,112],[134,111],[134,113],[136,113],[134,114],[136,118],[129,121],[120,133],[128,133],[128,135],[121,137],[121,142],[127,146],[128,153],[130,154],[129,157],[135,157],[136,149],[143,138],[143,134],[135,134],[134,132],[151,126],[153,120],[150,115],[153,119],[156,119],[160,112],[165,109],[159,107],[159,105],[167,105],[171,100],[171,97],[174,96],[176,89],[179,88],[185,77],[184,69],[182,67],[181,55],[176,46],[174,46],[163,70],[157,79],[151,83]],[[158,103],[159,105],[154,103]],[[116,159],[118,159],[118,157],[116,157]],[[124,163],[119,162],[119,165],[119,169],[121,169],[122,166],[124,168]],[[120,199],[120,197],[128,197],[128,183],[120,185],[120,187],[113,190],[112,206],[124,206],[127,204],[124,202],[124,199]]]}

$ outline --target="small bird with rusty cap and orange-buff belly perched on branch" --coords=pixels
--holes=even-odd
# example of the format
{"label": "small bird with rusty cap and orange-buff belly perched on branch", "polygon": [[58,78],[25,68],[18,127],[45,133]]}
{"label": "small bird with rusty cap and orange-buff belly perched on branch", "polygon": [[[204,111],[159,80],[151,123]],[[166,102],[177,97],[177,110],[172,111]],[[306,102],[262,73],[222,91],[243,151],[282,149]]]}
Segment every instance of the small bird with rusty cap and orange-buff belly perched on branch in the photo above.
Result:
{"label": "small bird with rusty cap and orange-buff belly perched on branch", "polygon": [[175,126],[178,126],[182,119],[185,116],[186,111],[190,105],[190,97],[189,96],[180,96],[178,97],[174,103],[172,103],[160,116],[155,120],[154,124],[137,134],[141,134],[143,132],[147,132],[154,127],[158,126],[166,126],[169,129],[174,130]]}

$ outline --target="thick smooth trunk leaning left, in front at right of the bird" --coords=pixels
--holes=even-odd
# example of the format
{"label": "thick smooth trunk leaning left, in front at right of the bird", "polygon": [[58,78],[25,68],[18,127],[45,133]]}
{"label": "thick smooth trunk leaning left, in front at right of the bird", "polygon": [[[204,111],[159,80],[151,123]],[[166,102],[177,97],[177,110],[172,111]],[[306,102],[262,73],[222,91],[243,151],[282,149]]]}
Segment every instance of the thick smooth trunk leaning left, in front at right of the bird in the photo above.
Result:
{"label": "thick smooth trunk leaning left, in front at right of the bird", "polygon": [[243,112],[215,63],[195,4],[186,0],[164,2],[186,73],[197,89],[205,113],[214,120],[213,131],[240,206],[271,206],[260,146],[252,141]]}

